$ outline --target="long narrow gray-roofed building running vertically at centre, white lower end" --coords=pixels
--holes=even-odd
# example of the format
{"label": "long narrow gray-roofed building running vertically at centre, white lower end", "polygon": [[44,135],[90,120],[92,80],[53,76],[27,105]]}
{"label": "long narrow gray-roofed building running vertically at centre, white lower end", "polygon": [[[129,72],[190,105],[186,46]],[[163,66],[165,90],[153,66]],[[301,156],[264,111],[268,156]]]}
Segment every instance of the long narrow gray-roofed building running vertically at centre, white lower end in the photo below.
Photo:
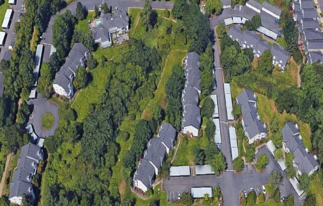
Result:
{"label": "long narrow gray-roofed building running vertically at centre, white lower end", "polygon": [[190,137],[197,137],[201,126],[201,111],[199,105],[200,87],[200,55],[189,52],[185,59],[185,87],[182,92],[183,118],[182,132]]}

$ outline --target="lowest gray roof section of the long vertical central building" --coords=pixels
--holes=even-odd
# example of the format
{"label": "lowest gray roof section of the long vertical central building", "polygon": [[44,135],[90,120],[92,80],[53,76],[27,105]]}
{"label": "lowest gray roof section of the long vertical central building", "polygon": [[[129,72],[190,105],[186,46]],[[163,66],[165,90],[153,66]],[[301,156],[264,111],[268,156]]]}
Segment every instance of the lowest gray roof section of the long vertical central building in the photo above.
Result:
{"label": "lowest gray roof section of the long vertical central building", "polygon": [[194,126],[200,129],[201,125],[201,114],[200,107],[194,104],[184,105],[184,117],[182,119],[182,127]]}

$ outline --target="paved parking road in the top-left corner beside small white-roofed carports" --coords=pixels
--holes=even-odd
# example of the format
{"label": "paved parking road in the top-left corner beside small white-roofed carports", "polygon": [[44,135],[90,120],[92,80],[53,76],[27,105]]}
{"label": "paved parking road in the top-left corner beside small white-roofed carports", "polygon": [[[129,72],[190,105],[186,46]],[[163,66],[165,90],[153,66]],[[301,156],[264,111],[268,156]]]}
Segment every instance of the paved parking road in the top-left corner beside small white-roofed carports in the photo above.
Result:
{"label": "paved parking road in the top-left corner beside small white-roofed carports", "polygon": [[18,21],[18,19],[20,19],[20,15],[24,13],[24,9],[21,8],[21,5],[23,4],[24,4],[24,0],[16,0],[15,5],[9,4],[9,8],[13,9],[13,15],[12,15],[9,29],[2,28],[2,31],[6,32],[7,35],[6,35],[4,46],[1,47],[0,59],[3,59],[4,53],[8,51],[8,47],[10,45],[14,45],[16,42],[17,35],[14,33],[14,24]]}

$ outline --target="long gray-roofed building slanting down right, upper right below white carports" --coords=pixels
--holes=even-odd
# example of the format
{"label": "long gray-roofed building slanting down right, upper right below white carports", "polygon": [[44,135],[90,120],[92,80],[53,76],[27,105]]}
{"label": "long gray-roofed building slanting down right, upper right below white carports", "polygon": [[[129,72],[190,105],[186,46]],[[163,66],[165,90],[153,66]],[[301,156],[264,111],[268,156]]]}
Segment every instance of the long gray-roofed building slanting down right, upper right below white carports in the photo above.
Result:
{"label": "long gray-roofed building slanting down right, upper right below white carports", "polygon": [[262,41],[254,31],[243,31],[238,26],[234,25],[230,27],[228,35],[233,41],[237,41],[242,48],[253,49],[253,53],[257,57],[260,57],[266,50],[269,50],[272,54],[272,64],[285,70],[289,53],[280,46],[276,44],[270,46],[267,42]]}

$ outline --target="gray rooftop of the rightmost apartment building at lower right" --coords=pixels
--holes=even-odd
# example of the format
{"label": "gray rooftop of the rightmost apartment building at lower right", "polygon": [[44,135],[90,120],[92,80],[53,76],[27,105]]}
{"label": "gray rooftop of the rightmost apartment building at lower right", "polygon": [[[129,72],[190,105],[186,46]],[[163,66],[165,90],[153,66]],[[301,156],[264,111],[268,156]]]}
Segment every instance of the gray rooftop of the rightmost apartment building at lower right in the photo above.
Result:
{"label": "gray rooftop of the rightmost apartment building at lower right", "polygon": [[287,122],[281,130],[281,134],[283,143],[294,154],[294,162],[301,172],[308,174],[319,165],[314,155],[306,151],[297,125],[293,122]]}

